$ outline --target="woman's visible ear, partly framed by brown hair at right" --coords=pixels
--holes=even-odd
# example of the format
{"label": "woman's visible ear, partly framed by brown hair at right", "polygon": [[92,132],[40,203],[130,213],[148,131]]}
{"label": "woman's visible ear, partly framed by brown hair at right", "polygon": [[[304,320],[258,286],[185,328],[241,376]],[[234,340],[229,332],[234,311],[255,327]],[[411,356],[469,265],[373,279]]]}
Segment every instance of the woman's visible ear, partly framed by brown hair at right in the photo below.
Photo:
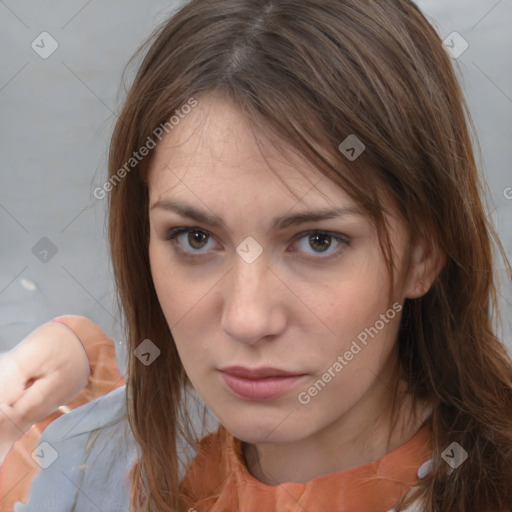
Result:
{"label": "woman's visible ear, partly framed by brown hair at right", "polygon": [[437,244],[427,243],[425,239],[418,240],[409,259],[404,297],[417,299],[425,295],[445,264],[446,254]]}

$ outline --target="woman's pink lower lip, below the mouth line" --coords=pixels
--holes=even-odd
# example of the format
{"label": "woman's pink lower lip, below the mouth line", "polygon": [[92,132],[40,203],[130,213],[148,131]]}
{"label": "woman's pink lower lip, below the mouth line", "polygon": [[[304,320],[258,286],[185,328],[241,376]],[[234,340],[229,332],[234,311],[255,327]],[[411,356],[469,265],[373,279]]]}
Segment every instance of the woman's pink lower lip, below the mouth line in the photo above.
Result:
{"label": "woman's pink lower lip, below the mouth line", "polygon": [[265,401],[277,398],[290,390],[304,375],[246,379],[222,372],[224,382],[233,394],[245,400]]}

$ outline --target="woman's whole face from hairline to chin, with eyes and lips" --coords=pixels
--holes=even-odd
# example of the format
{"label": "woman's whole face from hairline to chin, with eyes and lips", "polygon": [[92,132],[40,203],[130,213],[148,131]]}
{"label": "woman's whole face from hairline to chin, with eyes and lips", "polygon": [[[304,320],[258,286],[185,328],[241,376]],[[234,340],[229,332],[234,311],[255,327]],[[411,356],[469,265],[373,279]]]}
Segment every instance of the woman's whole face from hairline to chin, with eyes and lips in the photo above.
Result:
{"label": "woman's whole face from hairline to chin, with eyes and lips", "polygon": [[180,120],[149,173],[149,255],[197,392],[239,439],[283,443],[362,425],[387,403],[415,277],[393,220],[404,279],[389,303],[370,221],[303,158],[257,138],[220,97]]}

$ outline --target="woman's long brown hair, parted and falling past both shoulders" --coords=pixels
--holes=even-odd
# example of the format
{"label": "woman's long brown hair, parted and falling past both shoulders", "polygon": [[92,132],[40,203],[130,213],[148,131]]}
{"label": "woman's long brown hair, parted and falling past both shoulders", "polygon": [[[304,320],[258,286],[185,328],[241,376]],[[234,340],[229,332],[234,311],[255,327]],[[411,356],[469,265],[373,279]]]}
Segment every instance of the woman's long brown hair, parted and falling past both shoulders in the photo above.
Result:
{"label": "woman's long brown hair, parted and falling past both shoulders", "polygon": [[[414,497],[432,512],[511,510],[512,365],[495,335],[493,238],[509,276],[510,265],[482,204],[459,84],[425,17],[407,0],[192,0],[149,42],[115,127],[109,176],[191,97],[221,91],[368,212],[392,275],[389,195],[411,242],[421,233],[446,256],[430,290],[406,300],[397,340],[409,390],[433,405],[432,472]],[[338,149],[350,134],[366,146],[354,162]],[[151,160],[109,201],[130,354],[146,338],[161,350],[150,367],[129,360],[129,420],[142,449],[131,475],[137,512],[186,507],[176,441],[189,432],[186,375],[149,267]],[[469,458],[450,472],[440,454],[453,441]]]}

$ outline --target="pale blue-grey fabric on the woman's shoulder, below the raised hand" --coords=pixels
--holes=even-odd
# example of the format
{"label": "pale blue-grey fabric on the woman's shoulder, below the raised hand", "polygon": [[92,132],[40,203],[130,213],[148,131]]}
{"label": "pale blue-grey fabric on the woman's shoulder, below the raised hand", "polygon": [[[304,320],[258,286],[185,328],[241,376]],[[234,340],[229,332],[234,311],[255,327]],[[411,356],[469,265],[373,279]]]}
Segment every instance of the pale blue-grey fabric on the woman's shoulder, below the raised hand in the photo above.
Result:
{"label": "pale blue-grey fabric on the woman's shoulder, below the raised hand", "polygon": [[[138,445],[126,418],[125,386],[52,422],[37,447],[41,470],[14,512],[126,512]],[[75,508],[73,508],[75,507]]]}

